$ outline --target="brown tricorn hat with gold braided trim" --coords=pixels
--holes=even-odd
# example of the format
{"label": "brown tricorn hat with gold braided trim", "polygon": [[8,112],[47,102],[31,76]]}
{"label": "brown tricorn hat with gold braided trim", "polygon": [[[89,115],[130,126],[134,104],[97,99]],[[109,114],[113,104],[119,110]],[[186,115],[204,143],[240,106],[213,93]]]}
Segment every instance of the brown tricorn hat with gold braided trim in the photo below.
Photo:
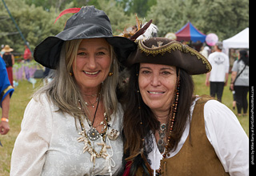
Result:
{"label": "brown tricorn hat with gold braided trim", "polygon": [[197,50],[169,38],[150,38],[138,41],[138,49],[127,58],[125,66],[135,63],[154,63],[176,66],[188,74],[210,72],[210,62]]}

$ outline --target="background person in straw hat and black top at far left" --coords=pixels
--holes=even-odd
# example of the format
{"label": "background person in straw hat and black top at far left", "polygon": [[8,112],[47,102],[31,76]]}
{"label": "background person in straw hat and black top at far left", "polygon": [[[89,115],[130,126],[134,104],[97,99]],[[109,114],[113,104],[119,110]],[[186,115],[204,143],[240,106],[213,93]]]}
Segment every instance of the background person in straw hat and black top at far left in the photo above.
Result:
{"label": "background person in straw hat and black top at far left", "polygon": [[8,73],[8,78],[10,81],[10,85],[13,86],[14,78],[13,78],[13,66],[14,66],[14,54],[11,54],[10,52],[14,49],[10,48],[9,45],[6,45],[2,51],[5,52],[2,54],[2,59],[4,62],[6,62],[6,70]]}

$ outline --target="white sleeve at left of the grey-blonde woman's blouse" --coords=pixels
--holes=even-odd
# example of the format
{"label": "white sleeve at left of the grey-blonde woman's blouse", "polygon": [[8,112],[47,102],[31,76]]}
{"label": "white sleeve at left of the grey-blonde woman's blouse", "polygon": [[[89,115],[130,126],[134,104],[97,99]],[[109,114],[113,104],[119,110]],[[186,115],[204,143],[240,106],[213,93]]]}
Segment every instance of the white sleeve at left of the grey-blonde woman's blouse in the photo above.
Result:
{"label": "white sleeve at left of the grey-blonde woman's blouse", "polygon": [[10,175],[40,175],[50,145],[52,110],[47,98],[26,106],[21,132],[14,144]]}

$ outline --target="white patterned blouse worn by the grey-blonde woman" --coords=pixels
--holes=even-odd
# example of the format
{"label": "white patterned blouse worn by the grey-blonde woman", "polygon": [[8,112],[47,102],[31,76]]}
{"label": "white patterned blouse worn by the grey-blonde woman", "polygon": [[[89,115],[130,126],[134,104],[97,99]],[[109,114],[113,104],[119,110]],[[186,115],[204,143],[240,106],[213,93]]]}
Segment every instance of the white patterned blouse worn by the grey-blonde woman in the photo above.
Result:
{"label": "white patterned blouse worn by the grey-blonde woman", "polygon": [[[22,120],[22,130],[14,144],[11,157],[10,175],[110,175],[109,164],[113,175],[118,174],[122,166],[123,145],[119,135],[116,140],[107,138],[111,146],[107,154],[112,159],[96,158],[95,166],[90,161],[90,154],[82,153],[84,143],[78,142],[81,126],[78,120],[69,114],[56,112],[58,108],[42,94],[40,102],[31,99],[26,106]],[[121,131],[123,110],[118,104],[117,114],[111,115],[110,127]],[[90,130],[84,122],[86,131]],[[77,127],[76,127],[77,126]],[[91,142],[96,152],[102,137]],[[94,169],[93,169],[94,166]]]}

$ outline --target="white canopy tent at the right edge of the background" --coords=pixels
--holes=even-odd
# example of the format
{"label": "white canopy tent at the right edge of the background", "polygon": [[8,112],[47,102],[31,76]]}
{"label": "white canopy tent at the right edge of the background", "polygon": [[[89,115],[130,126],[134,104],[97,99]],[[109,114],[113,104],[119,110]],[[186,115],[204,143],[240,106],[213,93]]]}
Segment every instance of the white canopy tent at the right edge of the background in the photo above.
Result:
{"label": "white canopy tent at the right edge of the background", "polygon": [[229,54],[230,48],[249,49],[249,27],[246,27],[246,29],[234,35],[232,38],[223,40],[222,44],[223,51],[226,54]]}

